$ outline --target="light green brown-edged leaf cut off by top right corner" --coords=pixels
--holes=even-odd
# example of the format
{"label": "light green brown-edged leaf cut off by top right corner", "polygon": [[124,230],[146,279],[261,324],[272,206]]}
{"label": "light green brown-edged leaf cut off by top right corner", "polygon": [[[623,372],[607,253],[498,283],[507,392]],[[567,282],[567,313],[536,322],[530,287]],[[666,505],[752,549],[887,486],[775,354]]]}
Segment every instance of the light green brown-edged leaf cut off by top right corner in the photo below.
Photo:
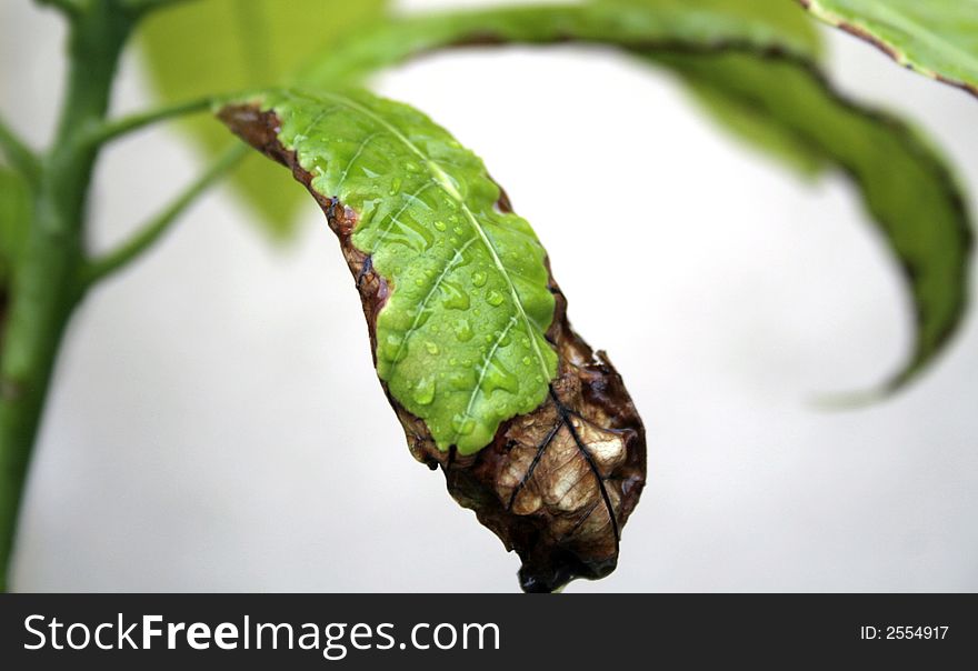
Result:
{"label": "light green brown-edged leaf cut off by top right corner", "polygon": [[978,96],[978,0],[800,0],[926,77]]}

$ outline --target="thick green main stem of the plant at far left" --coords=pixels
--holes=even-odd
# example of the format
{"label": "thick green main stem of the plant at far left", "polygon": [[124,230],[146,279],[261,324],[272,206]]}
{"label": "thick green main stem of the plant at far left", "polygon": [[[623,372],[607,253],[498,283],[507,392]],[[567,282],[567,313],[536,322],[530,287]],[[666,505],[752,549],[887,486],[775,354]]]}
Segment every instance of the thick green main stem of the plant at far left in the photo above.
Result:
{"label": "thick green main stem of the plant at far left", "polygon": [[51,372],[64,328],[83,296],[82,231],[98,147],[80,141],[80,136],[104,119],[119,54],[136,20],[120,11],[116,0],[90,0],[77,7],[69,36],[68,90],[54,143],[41,162],[0,360],[0,588],[4,591]]}

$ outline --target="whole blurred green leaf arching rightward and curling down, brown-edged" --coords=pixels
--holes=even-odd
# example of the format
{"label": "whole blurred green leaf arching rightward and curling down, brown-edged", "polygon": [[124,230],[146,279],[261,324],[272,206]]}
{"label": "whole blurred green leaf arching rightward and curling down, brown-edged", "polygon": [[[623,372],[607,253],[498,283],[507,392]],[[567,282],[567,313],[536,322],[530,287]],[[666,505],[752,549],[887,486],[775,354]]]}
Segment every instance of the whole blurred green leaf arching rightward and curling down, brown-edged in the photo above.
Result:
{"label": "whole blurred green leaf arching rightward and curling down, brown-edged", "polygon": [[550,7],[466,12],[390,22],[340,44],[308,67],[303,81],[328,86],[413,56],[463,44],[563,43],[619,47],[671,68],[726,113],[768,126],[812,166],[834,164],[860,189],[914,299],[917,339],[894,390],[940,351],[961,321],[971,223],[950,169],[896,117],[837,94],[804,40],[731,12],[629,6]]}

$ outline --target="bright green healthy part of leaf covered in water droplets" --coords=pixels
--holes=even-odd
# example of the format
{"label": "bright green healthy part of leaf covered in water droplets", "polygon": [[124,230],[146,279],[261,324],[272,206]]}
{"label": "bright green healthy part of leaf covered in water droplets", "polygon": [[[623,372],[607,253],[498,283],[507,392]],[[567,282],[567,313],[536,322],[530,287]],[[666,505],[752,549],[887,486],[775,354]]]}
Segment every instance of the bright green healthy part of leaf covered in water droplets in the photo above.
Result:
{"label": "bright green healthy part of leaf covered in water droplets", "polygon": [[377,372],[438,448],[471,454],[537,408],[557,374],[546,254],[526,220],[496,208],[482,161],[367,92],[271,92],[260,104],[312,189],[357,213],[353,246],[391,287]]}

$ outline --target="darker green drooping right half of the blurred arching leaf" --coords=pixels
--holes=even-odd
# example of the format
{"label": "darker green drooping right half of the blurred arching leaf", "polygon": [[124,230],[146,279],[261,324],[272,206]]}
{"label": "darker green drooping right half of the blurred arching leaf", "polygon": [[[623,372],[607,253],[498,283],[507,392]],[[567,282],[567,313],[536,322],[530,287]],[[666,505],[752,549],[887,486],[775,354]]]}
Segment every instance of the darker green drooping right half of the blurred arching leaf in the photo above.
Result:
{"label": "darker green drooping right half of the blurred arching leaf", "polygon": [[[912,378],[946,344],[967,302],[971,224],[941,156],[899,118],[842,98],[806,63],[731,53],[683,56],[672,66],[794,133],[859,188],[914,300],[914,351],[885,389]],[[772,81],[777,89],[765,88]]]}

